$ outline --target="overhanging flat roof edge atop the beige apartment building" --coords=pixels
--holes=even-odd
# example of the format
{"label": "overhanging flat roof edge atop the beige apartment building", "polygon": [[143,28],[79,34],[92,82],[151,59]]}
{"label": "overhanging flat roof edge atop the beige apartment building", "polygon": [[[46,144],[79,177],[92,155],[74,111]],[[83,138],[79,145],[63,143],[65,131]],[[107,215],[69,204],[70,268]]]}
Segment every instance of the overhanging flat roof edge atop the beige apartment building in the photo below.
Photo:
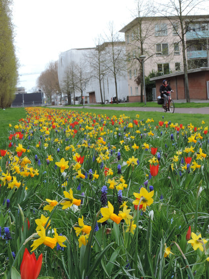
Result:
{"label": "overhanging flat roof edge atop the beige apartment building", "polygon": [[[183,16],[183,18],[186,19],[207,19],[209,20],[209,15],[198,15],[198,16]],[[137,25],[137,23],[139,22],[139,20],[143,20],[143,21],[152,21],[152,20],[162,20],[162,19],[173,19],[173,20],[177,20],[178,16],[170,16],[170,17],[137,17],[135,18],[133,21],[131,21],[129,24],[127,24],[126,26],[124,26],[124,28],[122,28],[119,32],[127,32],[128,30],[132,29],[135,25]]]}

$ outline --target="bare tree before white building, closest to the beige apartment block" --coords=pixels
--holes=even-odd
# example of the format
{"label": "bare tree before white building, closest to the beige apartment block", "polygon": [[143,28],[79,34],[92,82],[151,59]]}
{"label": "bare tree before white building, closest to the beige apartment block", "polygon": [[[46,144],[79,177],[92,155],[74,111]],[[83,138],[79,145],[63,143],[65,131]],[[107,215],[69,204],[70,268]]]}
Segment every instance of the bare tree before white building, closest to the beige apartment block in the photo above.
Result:
{"label": "bare tree before white building, closest to the beige apartment block", "polygon": [[114,30],[113,22],[109,23],[109,34],[106,34],[107,43],[103,43],[105,66],[107,71],[114,77],[116,88],[116,100],[118,104],[117,76],[123,74],[126,69],[125,41]]}

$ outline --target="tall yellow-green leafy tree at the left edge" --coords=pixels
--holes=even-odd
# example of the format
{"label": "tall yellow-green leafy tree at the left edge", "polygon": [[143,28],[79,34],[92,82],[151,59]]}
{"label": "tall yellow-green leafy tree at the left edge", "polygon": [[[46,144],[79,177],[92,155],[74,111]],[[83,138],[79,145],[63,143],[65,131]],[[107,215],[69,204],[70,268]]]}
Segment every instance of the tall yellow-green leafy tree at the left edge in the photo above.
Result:
{"label": "tall yellow-green leafy tree at the left edge", "polygon": [[10,0],[0,0],[0,107],[10,107],[18,80]]}

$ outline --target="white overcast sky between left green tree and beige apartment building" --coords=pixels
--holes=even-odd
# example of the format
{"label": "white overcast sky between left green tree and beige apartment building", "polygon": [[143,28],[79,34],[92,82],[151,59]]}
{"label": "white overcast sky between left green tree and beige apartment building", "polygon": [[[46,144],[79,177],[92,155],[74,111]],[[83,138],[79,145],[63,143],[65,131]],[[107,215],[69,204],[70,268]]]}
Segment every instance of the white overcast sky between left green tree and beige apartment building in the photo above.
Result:
{"label": "white overcast sky between left green tree and beige apartment building", "polygon": [[[40,73],[59,53],[95,46],[110,21],[119,31],[135,17],[135,0],[14,0],[16,55],[19,74]],[[40,74],[20,76],[28,92]]]}

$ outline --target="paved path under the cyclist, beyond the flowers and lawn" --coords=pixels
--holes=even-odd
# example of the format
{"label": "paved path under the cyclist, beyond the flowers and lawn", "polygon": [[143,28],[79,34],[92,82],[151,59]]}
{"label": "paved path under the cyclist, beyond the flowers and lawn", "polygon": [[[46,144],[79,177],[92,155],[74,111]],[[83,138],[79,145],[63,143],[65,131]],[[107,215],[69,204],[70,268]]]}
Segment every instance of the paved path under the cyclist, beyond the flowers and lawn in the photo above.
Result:
{"label": "paved path under the cyclist, beyond the flowers and lawn", "polygon": [[[51,108],[61,108],[62,106],[53,106]],[[66,107],[69,109],[82,109],[82,107]],[[88,109],[96,110],[115,110],[115,111],[136,111],[136,112],[162,112],[161,106],[157,108],[143,108],[143,107],[98,107],[98,106],[85,106]],[[167,112],[168,113],[168,112]],[[209,114],[209,104],[206,108],[175,108],[174,113],[186,114]]]}

